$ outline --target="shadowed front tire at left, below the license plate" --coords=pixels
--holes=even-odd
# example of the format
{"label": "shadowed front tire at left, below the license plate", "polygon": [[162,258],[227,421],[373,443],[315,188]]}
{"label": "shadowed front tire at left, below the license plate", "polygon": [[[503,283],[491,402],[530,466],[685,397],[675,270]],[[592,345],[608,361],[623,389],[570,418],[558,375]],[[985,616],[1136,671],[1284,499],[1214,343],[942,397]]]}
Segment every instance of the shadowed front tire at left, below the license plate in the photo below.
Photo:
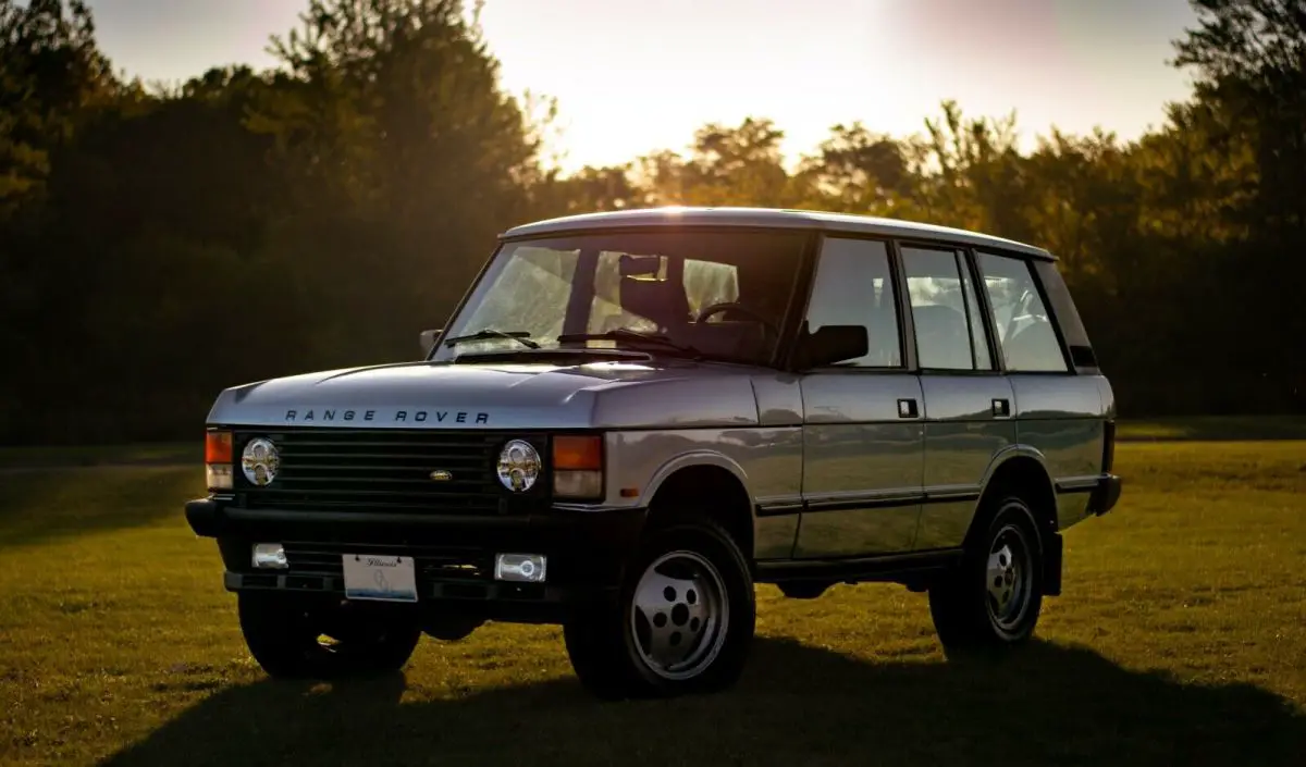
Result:
{"label": "shadowed front tire at left, below the license plate", "polygon": [[[246,646],[274,678],[396,672],[407,664],[422,638],[422,630],[397,610],[368,614],[367,605],[244,591],[238,599]],[[323,635],[333,642],[323,643]]]}

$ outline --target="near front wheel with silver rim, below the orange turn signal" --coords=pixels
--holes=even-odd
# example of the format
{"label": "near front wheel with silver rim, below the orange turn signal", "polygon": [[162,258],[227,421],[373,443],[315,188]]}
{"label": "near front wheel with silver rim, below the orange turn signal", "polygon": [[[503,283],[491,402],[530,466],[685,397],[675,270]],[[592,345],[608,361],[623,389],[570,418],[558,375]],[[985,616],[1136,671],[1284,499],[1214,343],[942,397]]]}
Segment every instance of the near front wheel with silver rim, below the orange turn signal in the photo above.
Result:
{"label": "near front wheel with silver rim, below the orange turn signal", "polygon": [[756,603],[743,553],[710,520],[654,528],[613,599],[563,625],[581,684],[605,699],[714,693],[738,681]]}

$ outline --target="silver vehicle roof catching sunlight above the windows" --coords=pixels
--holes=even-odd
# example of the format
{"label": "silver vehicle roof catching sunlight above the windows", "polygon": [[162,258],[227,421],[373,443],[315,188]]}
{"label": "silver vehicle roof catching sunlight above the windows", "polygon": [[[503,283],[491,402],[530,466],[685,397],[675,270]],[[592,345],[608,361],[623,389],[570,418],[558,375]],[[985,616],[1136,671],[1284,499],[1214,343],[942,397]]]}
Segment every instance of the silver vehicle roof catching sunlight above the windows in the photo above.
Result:
{"label": "silver vehicle roof catching sunlight above the windows", "polygon": [[982,235],[968,230],[892,218],[878,218],[871,215],[824,213],[819,210],[786,210],[774,207],[643,207],[633,210],[585,213],[580,215],[567,215],[516,226],[504,232],[502,237],[537,237],[593,230],[675,226],[774,227],[880,235],[902,239],[947,240],[951,243],[964,243],[980,248],[1000,248],[1050,261],[1055,260],[1055,257],[1043,248],[1037,248],[1027,243],[1017,243],[1003,237],[994,237],[991,235]]}

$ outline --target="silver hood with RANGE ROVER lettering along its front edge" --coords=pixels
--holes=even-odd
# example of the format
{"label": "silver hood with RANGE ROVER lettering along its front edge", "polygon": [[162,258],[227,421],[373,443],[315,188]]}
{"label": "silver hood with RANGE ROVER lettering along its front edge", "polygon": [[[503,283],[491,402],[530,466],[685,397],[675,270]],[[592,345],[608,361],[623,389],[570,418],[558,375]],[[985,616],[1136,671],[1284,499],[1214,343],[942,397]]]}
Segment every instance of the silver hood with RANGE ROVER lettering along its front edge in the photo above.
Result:
{"label": "silver hood with RANGE ROVER lettering along its front edge", "polygon": [[227,389],[208,423],[370,429],[738,427],[757,423],[755,372],[680,360],[374,365]]}

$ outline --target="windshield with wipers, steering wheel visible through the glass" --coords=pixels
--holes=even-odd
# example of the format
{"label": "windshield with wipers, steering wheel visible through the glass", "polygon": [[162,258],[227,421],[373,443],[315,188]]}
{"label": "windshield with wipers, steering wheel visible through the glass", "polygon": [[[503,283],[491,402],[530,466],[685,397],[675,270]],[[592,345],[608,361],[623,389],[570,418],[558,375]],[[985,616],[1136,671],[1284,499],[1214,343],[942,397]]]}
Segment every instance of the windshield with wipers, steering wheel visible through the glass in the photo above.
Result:
{"label": "windshield with wipers, steering wheel visible through the glass", "polygon": [[804,240],[718,230],[507,243],[432,359],[607,347],[768,364]]}

